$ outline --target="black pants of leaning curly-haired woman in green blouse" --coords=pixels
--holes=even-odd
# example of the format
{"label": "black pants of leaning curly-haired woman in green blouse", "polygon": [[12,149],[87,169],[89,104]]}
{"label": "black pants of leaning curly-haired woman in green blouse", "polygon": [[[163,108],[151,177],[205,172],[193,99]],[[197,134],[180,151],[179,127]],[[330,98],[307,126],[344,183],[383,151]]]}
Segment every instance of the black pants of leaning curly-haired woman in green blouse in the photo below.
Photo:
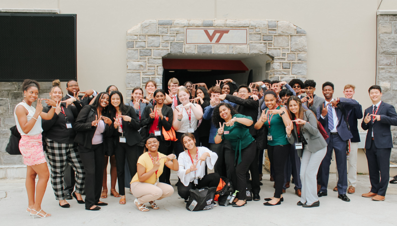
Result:
{"label": "black pants of leaning curly-haired woman in green blouse", "polygon": [[[239,192],[237,198],[239,200],[245,200],[247,198],[247,177],[246,173],[254,162],[257,153],[257,143],[254,140],[250,145],[241,150],[241,163],[237,164],[235,160],[235,150],[231,148],[231,145],[224,145],[225,148],[225,160],[227,175],[232,180],[233,186]],[[237,156],[238,158],[238,156]],[[258,162],[255,162],[258,170]],[[283,165],[284,166],[284,165]],[[283,167],[284,169],[284,167]],[[259,177],[258,177],[259,180]]]}

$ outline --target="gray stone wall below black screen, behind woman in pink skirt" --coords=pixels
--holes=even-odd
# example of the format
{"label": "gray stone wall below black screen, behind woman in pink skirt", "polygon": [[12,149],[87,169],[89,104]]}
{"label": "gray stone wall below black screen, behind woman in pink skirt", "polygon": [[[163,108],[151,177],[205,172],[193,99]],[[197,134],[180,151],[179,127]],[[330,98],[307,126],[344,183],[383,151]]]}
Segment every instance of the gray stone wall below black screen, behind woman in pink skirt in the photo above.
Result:
{"label": "gray stone wall below black screen, behind woman in pink skirt", "polygon": [[[22,101],[22,83],[0,83],[0,178],[25,178],[26,169],[24,168],[21,155],[9,155],[5,152],[10,131],[9,128],[15,126],[14,109]],[[40,97],[49,98],[52,83],[40,83]],[[43,102],[44,105],[46,105]]]}

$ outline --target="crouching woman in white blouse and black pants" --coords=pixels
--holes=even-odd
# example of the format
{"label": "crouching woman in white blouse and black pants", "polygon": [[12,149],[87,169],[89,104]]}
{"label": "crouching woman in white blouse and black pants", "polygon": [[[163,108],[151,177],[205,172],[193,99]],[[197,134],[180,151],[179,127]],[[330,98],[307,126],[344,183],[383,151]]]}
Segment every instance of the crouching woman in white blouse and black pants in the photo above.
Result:
{"label": "crouching woman in white blouse and black pants", "polygon": [[181,137],[184,152],[179,154],[178,163],[178,194],[188,200],[190,189],[202,187],[216,187],[219,184],[220,176],[217,173],[205,175],[205,168],[212,170],[218,155],[206,147],[196,147],[195,136],[185,133]]}

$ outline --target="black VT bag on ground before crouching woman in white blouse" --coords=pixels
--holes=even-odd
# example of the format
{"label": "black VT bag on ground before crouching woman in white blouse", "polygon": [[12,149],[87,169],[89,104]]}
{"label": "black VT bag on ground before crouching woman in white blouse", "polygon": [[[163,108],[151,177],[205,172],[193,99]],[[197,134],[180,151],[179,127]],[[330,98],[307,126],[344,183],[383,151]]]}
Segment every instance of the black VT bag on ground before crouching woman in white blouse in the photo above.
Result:
{"label": "black VT bag on ground before crouching woman in white blouse", "polygon": [[190,211],[213,209],[215,191],[216,187],[190,189],[190,197],[189,201],[186,203],[186,209]]}

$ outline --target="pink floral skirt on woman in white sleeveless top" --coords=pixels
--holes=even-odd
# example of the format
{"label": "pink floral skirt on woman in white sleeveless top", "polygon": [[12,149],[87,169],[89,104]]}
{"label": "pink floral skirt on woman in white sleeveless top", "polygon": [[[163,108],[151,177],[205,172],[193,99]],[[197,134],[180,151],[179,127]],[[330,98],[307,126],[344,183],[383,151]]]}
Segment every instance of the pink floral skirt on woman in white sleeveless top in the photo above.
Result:
{"label": "pink floral skirt on woman in white sleeveless top", "polygon": [[46,163],[43,150],[43,140],[41,134],[34,136],[21,136],[19,140],[19,150],[23,157],[23,164],[27,166]]}

